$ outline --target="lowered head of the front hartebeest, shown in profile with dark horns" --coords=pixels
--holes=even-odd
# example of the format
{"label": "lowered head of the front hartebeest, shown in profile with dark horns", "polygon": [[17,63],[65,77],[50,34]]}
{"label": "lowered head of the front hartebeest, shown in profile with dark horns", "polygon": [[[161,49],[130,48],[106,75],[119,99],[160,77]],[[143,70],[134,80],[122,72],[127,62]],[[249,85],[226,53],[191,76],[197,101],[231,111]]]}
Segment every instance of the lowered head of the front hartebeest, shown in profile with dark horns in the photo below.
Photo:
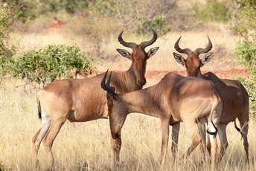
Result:
{"label": "lowered head of the front hartebeest, shown in profile with dark horns", "polygon": [[124,121],[127,118],[127,108],[124,105],[121,95],[115,94],[115,87],[109,86],[111,74],[109,74],[109,78],[106,82],[106,75],[108,71],[106,71],[103,80],[100,83],[101,88],[107,91],[107,105],[109,108],[109,123],[111,129],[111,135],[113,139],[121,137],[121,129],[124,125]]}

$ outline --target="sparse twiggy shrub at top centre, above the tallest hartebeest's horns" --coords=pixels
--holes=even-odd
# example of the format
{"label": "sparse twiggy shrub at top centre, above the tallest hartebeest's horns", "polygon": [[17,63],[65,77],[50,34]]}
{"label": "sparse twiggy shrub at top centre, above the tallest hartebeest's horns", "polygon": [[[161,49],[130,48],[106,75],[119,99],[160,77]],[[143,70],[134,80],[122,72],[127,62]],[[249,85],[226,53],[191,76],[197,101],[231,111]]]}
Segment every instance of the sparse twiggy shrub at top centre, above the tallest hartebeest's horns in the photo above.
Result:
{"label": "sparse twiggy shrub at top centre, above the tallest hartebeest's horns", "polygon": [[166,14],[173,6],[174,1],[167,0],[95,0],[89,2],[88,8],[91,15],[115,19],[135,33],[148,33],[153,28],[164,35],[170,31]]}

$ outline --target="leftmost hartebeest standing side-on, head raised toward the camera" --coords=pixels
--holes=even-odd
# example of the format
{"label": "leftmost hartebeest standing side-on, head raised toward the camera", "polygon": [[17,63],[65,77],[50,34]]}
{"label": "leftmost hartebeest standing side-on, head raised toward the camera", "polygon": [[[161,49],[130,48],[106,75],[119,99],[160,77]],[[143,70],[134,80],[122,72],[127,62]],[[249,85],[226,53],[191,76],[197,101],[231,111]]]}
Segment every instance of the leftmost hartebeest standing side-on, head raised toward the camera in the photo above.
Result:
{"label": "leftmost hartebeest standing side-on, head raised toward the camera", "polygon": [[[145,83],[147,59],[156,54],[157,48],[151,48],[147,53],[145,48],[156,42],[157,34],[153,30],[153,39],[141,42],[124,42],[122,33],[118,36],[121,45],[132,48],[132,54],[124,49],[117,49],[123,56],[132,61],[128,71],[113,73],[111,85],[115,86],[118,93],[127,93],[141,89]],[[52,144],[65,120],[71,122],[86,122],[100,118],[108,118],[106,105],[106,93],[100,88],[100,81],[104,74],[83,80],[55,80],[36,94],[39,117],[42,118],[42,126],[33,137],[33,156],[36,166],[39,166],[37,153],[41,141],[44,143],[51,166],[54,164]],[[112,139],[112,138],[111,138]],[[119,161],[121,138],[112,140],[112,166]]]}

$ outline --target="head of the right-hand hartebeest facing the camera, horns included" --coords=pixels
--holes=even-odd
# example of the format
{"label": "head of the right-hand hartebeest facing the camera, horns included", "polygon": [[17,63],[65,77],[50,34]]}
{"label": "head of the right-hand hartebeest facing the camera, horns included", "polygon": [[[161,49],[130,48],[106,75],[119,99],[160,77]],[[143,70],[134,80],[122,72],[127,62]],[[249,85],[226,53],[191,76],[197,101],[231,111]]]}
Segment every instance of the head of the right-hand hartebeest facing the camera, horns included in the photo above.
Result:
{"label": "head of the right-hand hartebeest facing the camera, horns included", "polygon": [[[182,54],[188,55],[187,59],[184,59],[182,55],[176,54],[173,52],[173,57],[176,59],[176,61],[179,64],[182,64],[186,70],[187,70],[187,76],[188,77],[200,77],[201,70],[200,68],[208,63],[211,60],[212,54],[205,54],[208,53],[208,51],[211,51],[212,44],[211,40],[208,37],[208,46],[206,48],[197,48],[196,51],[191,51],[189,48],[181,49],[179,48],[179,40],[182,38],[182,36],[179,37],[177,42],[174,45],[174,48],[176,51]],[[205,54],[202,59],[199,58],[199,54]]]}

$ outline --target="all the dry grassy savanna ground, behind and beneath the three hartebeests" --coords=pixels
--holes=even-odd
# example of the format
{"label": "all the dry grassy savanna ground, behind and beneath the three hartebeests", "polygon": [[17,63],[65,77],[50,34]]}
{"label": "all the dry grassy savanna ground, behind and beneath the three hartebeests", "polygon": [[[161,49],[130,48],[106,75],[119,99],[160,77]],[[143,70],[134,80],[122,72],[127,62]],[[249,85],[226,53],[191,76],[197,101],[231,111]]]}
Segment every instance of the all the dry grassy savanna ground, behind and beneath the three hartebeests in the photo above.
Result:
{"label": "all the dry grassy savanna ground, behind and beneath the three hartebeests", "polygon": [[[43,29],[45,24],[32,25],[28,32],[11,33],[10,41],[19,47],[18,54],[52,43],[77,44],[82,51],[91,52],[96,60],[103,62],[103,65],[97,65],[98,73],[108,68],[113,71],[126,71],[129,68],[130,61],[115,51],[116,48],[124,48],[117,39],[121,30],[117,30],[113,36],[108,36],[110,37],[108,39],[104,37],[106,32],[100,32],[99,37],[88,37],[86,33],[83,35],[74,33],[74,27],[80,24],[79,21],[66,22],[62,28],[47,30]],[[185,68],[173,58],[175,51],[173,45],[179,36],[182,36],[179,44],[181,48],[194,50],[205,48],[208,43],[207,35],[214,45],[211,50],[214,57],[202,68],[202,72],[213,71],[217,76],[228,79],[234,79],[237,76],[248,78],[247,69],[234,61],[234,54],[232,54],[235,40],[238,38],[227,33],[222,25],[213,23],[194,30],[170,31],[146,48],[148,51],[152,47],[160,47],[156,55],[147,61],[147,85],[145,87],[158,83],[168,71],[176,71],[185,75]],[[140,43],[151,39],[151,35],[135,36],[124,31],[123,38],[127,42]],[[127,51],[131,52],[129,48]],[[33,170],[32,137],[41,126],[37,114],[35,92],[26,94],[20,86],[23,84],[22,81],[14,80],[12,77],[1,78],[0,83],[0,161],[4,167],[11,170]],[[223,161],[216,166],[216,170],[256,170],[255,132],[256,120],[250,117],[250,161],[246,164],[246,154],[240,133],[234,129],[234,123],[228,124],[229,146]],[[158,118],[143,114],[129,114],[122,130],[122,142],[120,170],[159,170],[161,123]],[[179,157],[188,149],[190,143],[191,137],[182,124],[179,136]],[[165,170],[209,170],[210,156],[206,153],[205,163],[200,164],[199,147],[188,157],[185,164],[173,167],[170,145],[169,141]],[[109,120],[101,119],[87,123],[66,121],[54,141],[53,152],[56,170],[110,170]],[[41,169],[47,170],[48,159],[43,144],[39,148],[39,162]]]}

